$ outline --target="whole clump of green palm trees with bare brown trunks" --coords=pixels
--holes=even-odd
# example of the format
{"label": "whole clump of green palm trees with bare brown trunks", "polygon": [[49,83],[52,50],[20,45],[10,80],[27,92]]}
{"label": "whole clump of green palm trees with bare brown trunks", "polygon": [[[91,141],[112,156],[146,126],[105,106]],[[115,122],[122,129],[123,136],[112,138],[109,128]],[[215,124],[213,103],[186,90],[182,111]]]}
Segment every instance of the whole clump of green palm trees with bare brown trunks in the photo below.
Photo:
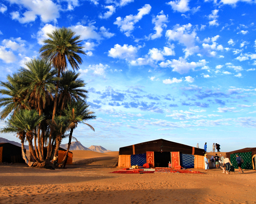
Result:
{"label": "whole clump of green palm trees with bare brown trunks", "polygon": [[[33,166],[44,167],[58,156],[61,140],[69,137],[65,158],[67,160],[72,134],[78,123],[88,125],[87,120],[95,119],[94,112],[86,103],[86,83],[79,79],[82,59],[86,55],[81,46],[80,36],[71,29],[60,28],[47,34],[40,48],[40,58],[34,58],[16,73],[7,76],[7,82],[0,82],[0,112],[2,120],[7,119],[2,133],[15,133],[22,143],[28,141]],[[68,65],[73,71],[67,70]],[[67,134],[69,131],[69,134]],[[33,144],[34,142],[34,144]],[[47,155],[44,149],[47,147]]]}

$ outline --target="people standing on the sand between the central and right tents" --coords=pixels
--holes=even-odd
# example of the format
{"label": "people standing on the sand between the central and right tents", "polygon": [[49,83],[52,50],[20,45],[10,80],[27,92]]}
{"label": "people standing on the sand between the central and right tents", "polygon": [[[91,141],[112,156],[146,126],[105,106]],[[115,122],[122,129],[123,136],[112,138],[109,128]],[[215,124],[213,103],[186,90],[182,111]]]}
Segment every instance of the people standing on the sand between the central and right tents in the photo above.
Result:
{"label": "people standing on the sand between the central and right tents", "polygon": [[[244,173],[242,169],[242,159],[238,154],[236,155],[236,157],[237,157],[236,161],[238,163],[239,173],[241,173],[240,171]],[[214,164],[215,164],[217,169],[219,167],[223,169],[222,173],[225,173],[225,169],[226,169],[226,173],[230,174],[230,167],[232,166],[232,164],[226,156],[223,157],[222,154],[220,154],[220,157],[219,157],[217,154],[215,154],[215,157],[212,156],[210,158],[210,161],[211,161],[211,164],[213,165],[212,167],[214,167]],[[204,162],[205,162],[205,170],[209,169],[209,160],[208,160],[207,154],[204,155]]]}

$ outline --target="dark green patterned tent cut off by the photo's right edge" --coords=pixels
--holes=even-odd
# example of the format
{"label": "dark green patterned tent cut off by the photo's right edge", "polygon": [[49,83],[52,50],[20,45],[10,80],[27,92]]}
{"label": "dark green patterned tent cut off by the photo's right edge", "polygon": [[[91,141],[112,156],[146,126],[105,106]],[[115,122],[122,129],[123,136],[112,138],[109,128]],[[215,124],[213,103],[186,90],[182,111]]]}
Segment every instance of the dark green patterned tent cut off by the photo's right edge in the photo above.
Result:
{"label": "dark green patterned tent cut off by the photo's right edge", "polygon": [[256,147],[247,147],[235,151],[226,152],[226,156],[227,158],[229,158],[234,168],[238,168],[238,163],[236,161],[237,154],[244,160],[244,163],[242,164],[242,169],[255,169],[254,162],[256,157]]}

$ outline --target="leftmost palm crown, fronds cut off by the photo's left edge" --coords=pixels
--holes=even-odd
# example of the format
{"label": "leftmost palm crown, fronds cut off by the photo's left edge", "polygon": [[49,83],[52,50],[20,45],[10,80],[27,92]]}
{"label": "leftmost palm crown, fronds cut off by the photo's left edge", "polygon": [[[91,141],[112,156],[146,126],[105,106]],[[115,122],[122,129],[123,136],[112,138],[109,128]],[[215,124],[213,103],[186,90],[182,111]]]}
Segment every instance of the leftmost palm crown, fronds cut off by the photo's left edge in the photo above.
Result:
{"label": "leftmost palm crown, fronds cut off by the photo's left edge", "polygon": [[27,86],[23,79],[24,77],[21,73],[14,73],[12,77],[10,75],[7,76],[8,82],[0,82],[0,86],[5,88],[0,89],[0,93],[7,95],[0,98],[0,107],[5,107],[0,113],[2,120],[17,110],[30,109],[26,101],[27,93],[21,93],[21,90]]}

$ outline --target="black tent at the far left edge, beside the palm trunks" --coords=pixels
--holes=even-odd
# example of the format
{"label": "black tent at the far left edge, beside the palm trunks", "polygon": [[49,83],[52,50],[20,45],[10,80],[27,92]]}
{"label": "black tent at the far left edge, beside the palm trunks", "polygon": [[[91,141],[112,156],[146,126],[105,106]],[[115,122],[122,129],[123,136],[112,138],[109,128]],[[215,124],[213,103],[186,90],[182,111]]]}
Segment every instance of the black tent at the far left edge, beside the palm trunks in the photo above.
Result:
{"label": "black tent at the far left edge, beside the palm trunks", "polygon": [[11,143],[0,143],[0,163],[25,163],[22,158],[22,147]]}

